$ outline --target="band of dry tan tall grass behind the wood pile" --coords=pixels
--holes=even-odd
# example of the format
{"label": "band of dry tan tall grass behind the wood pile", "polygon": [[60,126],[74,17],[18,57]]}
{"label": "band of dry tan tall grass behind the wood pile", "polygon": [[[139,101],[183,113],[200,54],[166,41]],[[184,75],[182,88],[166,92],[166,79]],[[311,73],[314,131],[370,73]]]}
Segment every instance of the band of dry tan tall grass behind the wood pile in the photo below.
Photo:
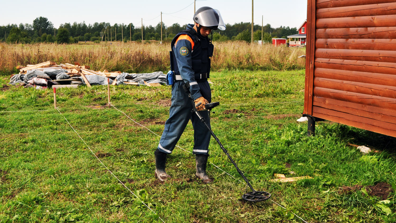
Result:
{"label": "band of dry tan tall grass behind the wood pile", "polygon": [[[303,69],[304,49],[259,46],[246,42],[216,42],[212,58],[212,70],[290,70]],[[169,43],[139,44],[118,42],[113,44],[56,45],[17,44],[0,45],[0,71],[15,71],[16,65],[36,64],[43,61],[57,63],[80,62],[91,69],[125,72],[153,72],[169,70]]]}

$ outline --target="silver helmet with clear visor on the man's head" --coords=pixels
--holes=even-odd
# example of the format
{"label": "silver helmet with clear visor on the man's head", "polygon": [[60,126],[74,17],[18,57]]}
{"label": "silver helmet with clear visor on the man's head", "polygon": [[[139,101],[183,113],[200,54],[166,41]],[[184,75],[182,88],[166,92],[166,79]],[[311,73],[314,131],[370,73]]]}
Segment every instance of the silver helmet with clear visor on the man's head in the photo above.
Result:
{"label": "silver helmet with clear visor on the man's head", "polygon": [[225,24],[220,15],[220,11],[208,6],[199,8],[192,19],[194,22],[204,27],[208,27],[213,30],[225,30]]}

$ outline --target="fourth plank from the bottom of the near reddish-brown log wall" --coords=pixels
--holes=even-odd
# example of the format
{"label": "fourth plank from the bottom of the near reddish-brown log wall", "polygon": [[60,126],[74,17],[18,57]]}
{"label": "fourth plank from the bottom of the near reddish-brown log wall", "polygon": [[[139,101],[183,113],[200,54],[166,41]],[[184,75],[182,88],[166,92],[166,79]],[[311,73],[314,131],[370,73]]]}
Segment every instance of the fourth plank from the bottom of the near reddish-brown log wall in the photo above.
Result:
{"label": "fourth plank from the bottom of the near reddish-brown log wall", "polygon": [[319,88],[330,88],[340,91],[362,93],[366,95],[390,97],[393,99],[396,98],[396,87],[386,86],[386,85],[367,84],[367,83],[360,83],[355,81],[335,80],[329,78],[315,77],[314,86]]}

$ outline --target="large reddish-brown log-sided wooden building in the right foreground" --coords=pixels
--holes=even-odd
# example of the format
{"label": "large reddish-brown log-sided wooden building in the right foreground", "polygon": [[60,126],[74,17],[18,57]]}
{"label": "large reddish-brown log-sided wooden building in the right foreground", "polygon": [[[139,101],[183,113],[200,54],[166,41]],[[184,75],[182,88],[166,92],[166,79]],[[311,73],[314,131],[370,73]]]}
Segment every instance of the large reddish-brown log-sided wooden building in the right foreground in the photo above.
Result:
{"label": "large reddish-brown log-sided wooden building in the right foreground", "polygon": [[304,115],[396,137],[396,0],[308,0]]}

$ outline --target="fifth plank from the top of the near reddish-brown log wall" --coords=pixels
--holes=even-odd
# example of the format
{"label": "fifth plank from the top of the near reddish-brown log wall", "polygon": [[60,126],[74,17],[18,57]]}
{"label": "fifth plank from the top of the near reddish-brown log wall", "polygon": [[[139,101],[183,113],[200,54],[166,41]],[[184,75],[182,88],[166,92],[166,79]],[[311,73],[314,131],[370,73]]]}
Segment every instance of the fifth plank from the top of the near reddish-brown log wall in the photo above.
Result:
{"label": "fifth plank from the top of the near reddish-brown log wall", "polygon": [[396,39],[317,39],[316,49],[395,50]]}

